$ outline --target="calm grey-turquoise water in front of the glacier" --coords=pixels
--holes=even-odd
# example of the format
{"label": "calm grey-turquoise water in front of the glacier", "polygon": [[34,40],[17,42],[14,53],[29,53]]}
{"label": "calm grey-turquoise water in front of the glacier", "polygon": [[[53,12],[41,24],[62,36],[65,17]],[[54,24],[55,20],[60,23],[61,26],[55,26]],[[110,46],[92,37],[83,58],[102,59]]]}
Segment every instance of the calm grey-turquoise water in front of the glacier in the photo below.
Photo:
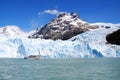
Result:
{"label": "calm grey-turquoise water in front of the glacier", "polygon": [[120,80],[120,58],[0,59],[0,80]]}

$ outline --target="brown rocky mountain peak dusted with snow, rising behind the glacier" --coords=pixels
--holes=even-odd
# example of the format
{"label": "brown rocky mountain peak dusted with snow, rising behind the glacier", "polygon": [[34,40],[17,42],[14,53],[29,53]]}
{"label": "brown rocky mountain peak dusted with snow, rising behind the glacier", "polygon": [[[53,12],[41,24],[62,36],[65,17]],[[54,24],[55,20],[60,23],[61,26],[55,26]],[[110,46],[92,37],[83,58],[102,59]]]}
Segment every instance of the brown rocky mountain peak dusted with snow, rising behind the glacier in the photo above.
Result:
{"label": "brown rocky mountain peak dusted with snow, rising behind the glacier", "polygon": [[57,18],[36,30],[36,32],[29,36],[29,38],[67,40],[94,28],[97,28],[97,26],[82,21],[76,13],[61,13]]}

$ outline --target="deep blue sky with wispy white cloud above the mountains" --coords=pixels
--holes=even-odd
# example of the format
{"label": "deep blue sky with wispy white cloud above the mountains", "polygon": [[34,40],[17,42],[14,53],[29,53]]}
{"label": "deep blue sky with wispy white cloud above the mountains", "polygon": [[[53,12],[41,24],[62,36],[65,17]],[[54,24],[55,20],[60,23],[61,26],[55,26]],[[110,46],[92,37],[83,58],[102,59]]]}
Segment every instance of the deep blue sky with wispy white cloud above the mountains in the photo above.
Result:
{"label": "deep blue sky with wispy white cloud above the mountains", "polygon": [[120,0],[0,0],[0,27],[17,25],[29,32],[60,12],[76,12],[89,23],[120,23]]}

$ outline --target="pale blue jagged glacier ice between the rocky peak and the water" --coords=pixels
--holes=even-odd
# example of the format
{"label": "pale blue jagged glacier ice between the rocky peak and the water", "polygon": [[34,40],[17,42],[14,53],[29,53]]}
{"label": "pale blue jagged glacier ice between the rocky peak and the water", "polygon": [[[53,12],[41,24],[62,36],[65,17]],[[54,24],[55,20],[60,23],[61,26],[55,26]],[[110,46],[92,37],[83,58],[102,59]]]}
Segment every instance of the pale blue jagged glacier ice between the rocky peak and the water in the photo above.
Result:
{"label": "pale blue jagged glacier ice between the rocky peak and the water", "polygon": [[[91,29],[66,41],[30,39],[22,36],[23,34],[0,34],[0,58],[23,58],[38,55],[39,52],[41,58],[120,57],[120,46],[106,44],[105,39],[107,34],[120,29],[120,24],[94,24],[99,25],[99,28]],[[105,26],[108,25],[110,28],[106,29]]]}

